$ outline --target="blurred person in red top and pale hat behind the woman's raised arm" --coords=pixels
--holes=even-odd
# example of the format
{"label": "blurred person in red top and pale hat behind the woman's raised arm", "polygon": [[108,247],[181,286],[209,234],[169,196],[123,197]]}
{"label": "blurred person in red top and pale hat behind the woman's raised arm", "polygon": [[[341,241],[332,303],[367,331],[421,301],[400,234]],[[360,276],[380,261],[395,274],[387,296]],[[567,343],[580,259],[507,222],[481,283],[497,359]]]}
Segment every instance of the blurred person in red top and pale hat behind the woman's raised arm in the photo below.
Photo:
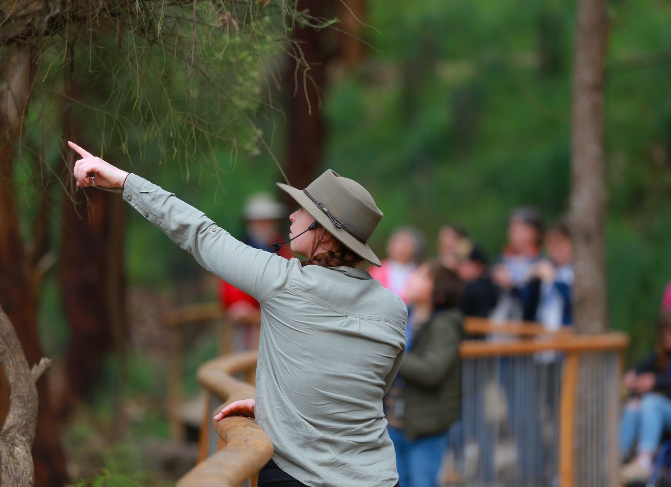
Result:
{"label": "blurred person in red top and pale hat behind the woman's raised arm", "polygon": [[[279,251],[272,248],[274,242],[284,240],[280,232],[280,220],[287,216],[287,209],[272,199],[267,193],[252,194],[242,210],[245,225],[245,234],[242,242],[254,249],[277,253],[286,259],[291,259],[293,253],[288,246],[280,247]],[[219,279],[219,301],[229,320],[238,323],[256,324],[261,316],[258,301],[231,286],[223,279]],[[249,342],[250,336],[247,337]],[[247,344],[245,348],[255,348],[255,344]]]}

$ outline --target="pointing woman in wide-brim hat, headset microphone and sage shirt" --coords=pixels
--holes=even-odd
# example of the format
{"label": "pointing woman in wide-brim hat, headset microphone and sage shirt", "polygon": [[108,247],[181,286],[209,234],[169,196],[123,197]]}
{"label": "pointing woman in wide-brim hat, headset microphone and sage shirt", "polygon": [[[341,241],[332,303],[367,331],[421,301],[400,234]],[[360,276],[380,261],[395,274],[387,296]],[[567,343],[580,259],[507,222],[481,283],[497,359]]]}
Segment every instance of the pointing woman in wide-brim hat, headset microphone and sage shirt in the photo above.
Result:
{"label": "pointing woman in wide-brim hat, headset microphone and sage shirt", "polygon": [[[407,308],[356,266],[380,265],[368,238],[382,212],[358,183],[326,171],[305,190],[291,249],[306,261],[252,249],[202,212],[70,143],[77,186],[123,188],[123,199],[205,269],[258,299],[256,398],[215,416],[256,417],[274,447],[259,486],[393,487],[394,447],[382,397],[405,350]],[[95,173],[95,180],[89,175]]]}

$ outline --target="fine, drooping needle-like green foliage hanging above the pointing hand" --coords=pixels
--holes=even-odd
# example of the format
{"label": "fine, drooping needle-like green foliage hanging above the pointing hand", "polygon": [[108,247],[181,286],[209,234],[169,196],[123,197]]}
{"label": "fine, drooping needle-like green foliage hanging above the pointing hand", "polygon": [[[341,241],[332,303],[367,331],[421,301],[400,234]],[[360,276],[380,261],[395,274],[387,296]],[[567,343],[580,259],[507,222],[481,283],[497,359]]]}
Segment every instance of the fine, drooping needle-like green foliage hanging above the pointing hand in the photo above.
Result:
{"label": "fine, drooping needle-like green foliage hanging above the pointing hand", "polygon": [[194,166],[219,178],[238,153],[258,153],[254,112],[272,104],[263,86],[293,1],[81,2],[54,15],[58,28],[32,40],[39,62],[19,180],[42,188],[62,179],[71,190],[66,138],[136,167],[147,155],[176,161],[186,180]]}

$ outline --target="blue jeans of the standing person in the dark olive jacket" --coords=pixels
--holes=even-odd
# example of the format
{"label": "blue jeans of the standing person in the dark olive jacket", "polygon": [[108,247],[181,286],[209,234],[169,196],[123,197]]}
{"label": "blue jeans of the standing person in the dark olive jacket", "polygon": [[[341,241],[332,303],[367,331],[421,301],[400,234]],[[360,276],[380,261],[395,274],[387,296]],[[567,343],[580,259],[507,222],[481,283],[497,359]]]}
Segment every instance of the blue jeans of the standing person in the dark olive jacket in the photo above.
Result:
{"label": "blue jeans of the standing person in the dark olive jacket", "polygon": [[402,429],[387,427],[396,450],[396,469],[401,487],[437,487],[438,471],[449,434],[408,439]]}

